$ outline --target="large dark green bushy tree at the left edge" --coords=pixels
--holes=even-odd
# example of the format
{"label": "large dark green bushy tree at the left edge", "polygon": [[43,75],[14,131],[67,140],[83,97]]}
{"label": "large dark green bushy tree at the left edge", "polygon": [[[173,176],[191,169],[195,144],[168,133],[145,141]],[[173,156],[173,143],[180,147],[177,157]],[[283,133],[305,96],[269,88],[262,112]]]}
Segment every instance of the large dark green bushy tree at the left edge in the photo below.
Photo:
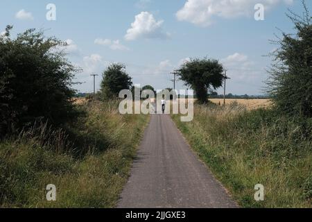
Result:
{"label": "large dark green bushy tree at the left edge", "polygon": [[0,36],[0,135],[35,121],[62,124],[75,116],[71,99],[78,71],[64,57],[66,44],[29,29]]}

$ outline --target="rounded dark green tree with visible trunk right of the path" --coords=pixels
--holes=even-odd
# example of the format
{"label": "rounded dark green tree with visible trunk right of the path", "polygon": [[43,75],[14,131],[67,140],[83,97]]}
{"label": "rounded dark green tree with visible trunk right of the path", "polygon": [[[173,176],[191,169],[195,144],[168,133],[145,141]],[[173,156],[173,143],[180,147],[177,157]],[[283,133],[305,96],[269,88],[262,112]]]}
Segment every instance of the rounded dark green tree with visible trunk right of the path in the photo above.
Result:
{"label": "rounded dark green tree with visible trunk right of the path", "polygon": [[218,89],[226,78],[218,60],[207,58],[185,62],[177,70],[177,76],[195,90],[199,103],[207,103],[208,90]]}

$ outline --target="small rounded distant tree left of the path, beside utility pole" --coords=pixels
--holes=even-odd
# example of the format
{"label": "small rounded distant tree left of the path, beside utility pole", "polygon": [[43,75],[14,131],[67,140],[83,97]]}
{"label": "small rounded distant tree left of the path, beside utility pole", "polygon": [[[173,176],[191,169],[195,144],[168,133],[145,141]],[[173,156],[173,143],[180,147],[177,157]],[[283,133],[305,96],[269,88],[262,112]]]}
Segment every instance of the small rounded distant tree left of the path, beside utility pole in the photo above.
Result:
{"label": "small rounded distant tree left of the path, beside utility pole", "polygon": [[125,65],[113,63],[103,71],[101,93],[103,99],[117,99],[123,89],[131,89],[132,78],[125,72]]}

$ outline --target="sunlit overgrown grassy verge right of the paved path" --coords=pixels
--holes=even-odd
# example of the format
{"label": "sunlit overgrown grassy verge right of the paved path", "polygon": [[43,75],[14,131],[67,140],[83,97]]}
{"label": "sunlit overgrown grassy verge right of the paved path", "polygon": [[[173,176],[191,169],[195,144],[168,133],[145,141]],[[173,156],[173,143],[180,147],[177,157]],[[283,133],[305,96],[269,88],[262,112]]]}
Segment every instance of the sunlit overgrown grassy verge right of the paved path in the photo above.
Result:
{"label": "sunlit overgrown grassy verge right of the paved path", "polygon": [[[312,207],[311,121],[239,105],[196,105],[193,121],[173,119],[242,207]],[[258,183],[261,202],[254,200]]]}

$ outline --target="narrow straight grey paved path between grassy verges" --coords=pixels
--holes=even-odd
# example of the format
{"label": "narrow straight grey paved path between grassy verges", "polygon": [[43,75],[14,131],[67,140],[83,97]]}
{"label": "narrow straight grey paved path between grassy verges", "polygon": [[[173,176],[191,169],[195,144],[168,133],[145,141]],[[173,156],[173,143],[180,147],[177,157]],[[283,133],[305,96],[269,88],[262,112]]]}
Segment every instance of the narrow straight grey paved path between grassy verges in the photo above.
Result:
{"label": "narrow straight grey paved path between grassy verges", "polygon": [[191,151],[171,117],[153,114],[117,207],[237,205]]}

